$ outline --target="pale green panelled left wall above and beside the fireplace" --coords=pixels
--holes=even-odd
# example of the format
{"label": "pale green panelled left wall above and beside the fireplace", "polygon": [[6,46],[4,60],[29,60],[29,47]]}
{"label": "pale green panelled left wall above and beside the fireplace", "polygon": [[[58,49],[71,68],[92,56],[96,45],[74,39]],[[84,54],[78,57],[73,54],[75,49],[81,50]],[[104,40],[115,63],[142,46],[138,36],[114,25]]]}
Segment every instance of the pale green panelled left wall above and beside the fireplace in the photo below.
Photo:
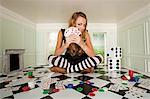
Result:
{"label": "pale green panelled left wall above and beside the fireplace", "polygon": [[25,49],[24,66],[35,65],[36,25],[3,6],[1,12],[1,46],[5,49]]}

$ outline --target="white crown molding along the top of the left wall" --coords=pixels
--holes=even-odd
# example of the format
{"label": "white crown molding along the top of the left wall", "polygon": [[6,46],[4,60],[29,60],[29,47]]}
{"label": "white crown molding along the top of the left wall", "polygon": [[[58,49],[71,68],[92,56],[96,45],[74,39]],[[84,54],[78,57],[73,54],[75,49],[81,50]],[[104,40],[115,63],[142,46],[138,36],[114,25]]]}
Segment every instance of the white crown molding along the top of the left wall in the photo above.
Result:
{"label": "white crown molding along the top of the left wall", "polygon": [[22,25],[25,25],[28,27],[32,27],[32,28],[36,27],[36,24],[33,23],[32,21],[30,21],[27,18],[3,7],[2,5],[0,5],[0,17],[14,21],[16,23],[19,23],[19,24],[22,24]]}

